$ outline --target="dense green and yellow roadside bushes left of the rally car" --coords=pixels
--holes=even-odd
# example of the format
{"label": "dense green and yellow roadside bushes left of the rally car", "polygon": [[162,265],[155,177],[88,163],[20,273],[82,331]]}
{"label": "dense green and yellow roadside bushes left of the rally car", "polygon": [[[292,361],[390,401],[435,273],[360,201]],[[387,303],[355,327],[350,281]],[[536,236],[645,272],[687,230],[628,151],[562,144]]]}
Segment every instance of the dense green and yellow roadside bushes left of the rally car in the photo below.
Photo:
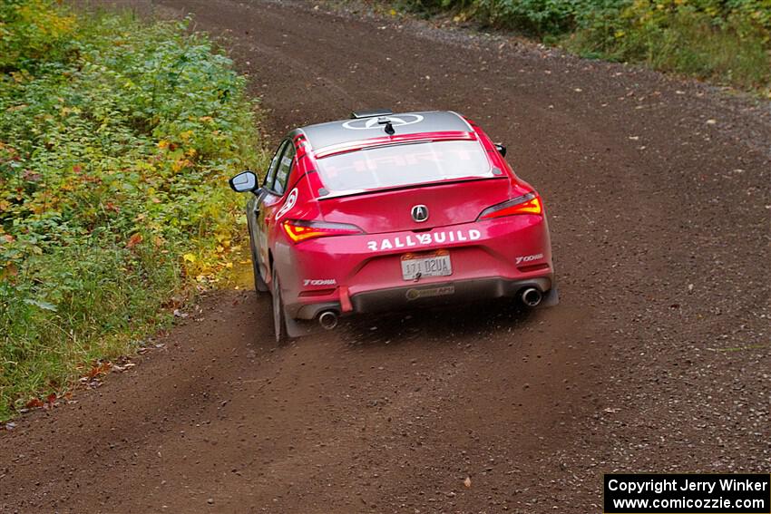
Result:
{"label": "dense green and yellow roadside bushes left of the rally car", "polygon": [[[254,105],[183,23],[0,3],[0,420],[109,369],[231,266]],[[41,400],[43,399],[43,400]]]}

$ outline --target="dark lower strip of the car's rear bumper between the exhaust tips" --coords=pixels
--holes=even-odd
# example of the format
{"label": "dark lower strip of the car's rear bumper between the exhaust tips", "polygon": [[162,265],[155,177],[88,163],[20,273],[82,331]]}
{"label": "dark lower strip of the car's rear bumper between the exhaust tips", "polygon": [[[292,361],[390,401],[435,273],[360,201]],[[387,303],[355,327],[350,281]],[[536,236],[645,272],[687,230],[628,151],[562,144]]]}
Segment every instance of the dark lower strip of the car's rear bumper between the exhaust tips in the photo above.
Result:
{"label": "dark lower strip of the car's rear bumper between the exhaust tips", "polygon": [[[549,275],[512,280],[492,276],[470,280],[432,282],[430,284],[414,283],[409,286],[358,293],[352,295],[350,301],[353,306],[353,313],[366,314],[398,311],[413,307],[464,304],[503,297],[513,298],[525,287],[535,287],[545,294],[553,287],[553,277]],[[302,305],[296,317],[314,319],[327,310],[342,312],[339,302],[324,302]]]}

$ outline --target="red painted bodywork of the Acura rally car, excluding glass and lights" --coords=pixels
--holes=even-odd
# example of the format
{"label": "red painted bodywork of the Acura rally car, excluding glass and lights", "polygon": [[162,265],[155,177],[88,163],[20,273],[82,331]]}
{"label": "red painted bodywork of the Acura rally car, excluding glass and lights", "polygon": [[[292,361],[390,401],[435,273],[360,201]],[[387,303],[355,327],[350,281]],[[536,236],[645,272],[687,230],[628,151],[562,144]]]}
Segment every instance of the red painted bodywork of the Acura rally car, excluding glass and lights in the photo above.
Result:
{"label": "red painted bodywork of the Acura rally car, excluding glass and lights", "polygon": [[[419,113],[428,121],[431,115]],[[397,127],[391,136],[376,131],[374,137],[335,141],[322,148],[314,147],[314,138],[305,129],[289,134],[282,144],[293,145],[295,156],[286,187],[280,192],[261,189],[248,207],[260,275],[268,285],[274,271],[280,277],[289,319],[312,319],[324,310],[346,314],[515,296],[524,286],[535,286],[544,294],[552,289],[545,209],[537,214],[480,218],[491,206],[534,193],[532,186],[514,174],[481,129],[454,116],[468,130],[415,128],[398,133],[401,127]],[[337,134],[329,136],[334,140]],[[337,194],[326,190],[318,171],[319,160],[332,155],[419,141],[478,141],[495,174]],[[424,222],[411,215],[418,205],[430,212]],[[345,224],[360,231],[295,242],[283,224],[296,220]],[[405,280],[403,257],[437,251],[449,255],[452,275]]]}

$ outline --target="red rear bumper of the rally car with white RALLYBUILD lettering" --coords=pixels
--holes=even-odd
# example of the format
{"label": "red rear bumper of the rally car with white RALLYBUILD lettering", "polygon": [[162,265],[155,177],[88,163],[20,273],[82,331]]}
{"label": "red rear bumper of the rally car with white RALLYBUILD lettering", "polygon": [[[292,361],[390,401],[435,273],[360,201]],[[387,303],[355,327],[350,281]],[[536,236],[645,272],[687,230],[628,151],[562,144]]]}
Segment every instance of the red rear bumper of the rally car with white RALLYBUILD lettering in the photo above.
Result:
{"label": "red rear bumper of the rally car with white RALLYBUILD lettering", "polygon": [[[404,279],[405,254],[440,249],[449,252],[451,276]],[[528,215],[277,244],[274,257],[287,315],[298,319],[514,296],[525,286],[546,293],[554,273],[546,218]]]}

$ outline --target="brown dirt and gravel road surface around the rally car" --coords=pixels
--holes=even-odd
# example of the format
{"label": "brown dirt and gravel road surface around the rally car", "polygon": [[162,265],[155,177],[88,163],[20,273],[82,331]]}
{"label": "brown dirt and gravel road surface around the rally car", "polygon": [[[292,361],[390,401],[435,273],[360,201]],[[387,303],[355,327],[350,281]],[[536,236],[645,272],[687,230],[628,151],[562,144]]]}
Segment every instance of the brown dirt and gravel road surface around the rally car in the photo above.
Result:
{"label": "brown dirt and gravel road surface around the rally car", "polygon": [[272,141],[363,107],[480,122],[542,191],[562,303],[277,346],[268,298],[209,296],[0,435],[0,511],[590,513],[603,472],[771,470],[767,103],[309,3],[130,4],[225,37]]}

